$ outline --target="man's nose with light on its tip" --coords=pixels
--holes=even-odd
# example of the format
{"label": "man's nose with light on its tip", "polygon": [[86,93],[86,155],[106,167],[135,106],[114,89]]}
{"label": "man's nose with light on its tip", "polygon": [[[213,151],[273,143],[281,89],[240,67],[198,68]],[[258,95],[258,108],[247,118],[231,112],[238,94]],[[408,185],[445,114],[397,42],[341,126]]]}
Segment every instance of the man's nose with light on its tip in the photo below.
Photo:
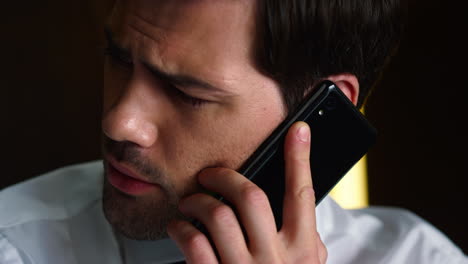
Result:
{"label": "man's nose with light on its tip", "polygon": [[151,97],[146,94],[146,89],[145,83],[134,77],[112,106],[105,109],[102,130],[107,137],[132,142],[142,148],[149,148],[156,142],[156,109],[153,109],[154,104],[148,102]]}

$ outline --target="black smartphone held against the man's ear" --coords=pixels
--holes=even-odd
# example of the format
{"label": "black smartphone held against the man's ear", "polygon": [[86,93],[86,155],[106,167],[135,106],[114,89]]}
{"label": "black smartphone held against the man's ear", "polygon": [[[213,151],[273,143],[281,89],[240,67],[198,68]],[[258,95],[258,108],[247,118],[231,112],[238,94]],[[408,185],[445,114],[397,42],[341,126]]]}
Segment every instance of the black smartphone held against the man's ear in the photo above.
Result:
{"label": "black smartphone held against the man's ear", "polygon": [[[297,121],[306,122],[311,129],[310,163],[317,204],[367,153],[377,135],[336,84],[323,81],[316,85],[238,170],[266,193],[278,230],[282,225],[285,188],[284,139]],[[207,234],[199,222],[195,225]]]}

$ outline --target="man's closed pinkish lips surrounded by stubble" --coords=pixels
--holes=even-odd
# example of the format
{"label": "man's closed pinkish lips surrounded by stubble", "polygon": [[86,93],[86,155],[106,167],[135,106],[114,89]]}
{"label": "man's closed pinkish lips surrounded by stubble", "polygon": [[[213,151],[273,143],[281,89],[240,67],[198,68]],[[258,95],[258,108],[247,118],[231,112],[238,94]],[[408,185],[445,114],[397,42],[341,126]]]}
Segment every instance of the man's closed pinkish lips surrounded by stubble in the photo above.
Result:
{"label": "man's closed pinkish lips surrounded by stubble", "polygon": [[148,182],[132,168],[117,162],[111,157],[105,159],[105,166],[109,183],[123,193],[139,196],[160,189],[158,184]]}

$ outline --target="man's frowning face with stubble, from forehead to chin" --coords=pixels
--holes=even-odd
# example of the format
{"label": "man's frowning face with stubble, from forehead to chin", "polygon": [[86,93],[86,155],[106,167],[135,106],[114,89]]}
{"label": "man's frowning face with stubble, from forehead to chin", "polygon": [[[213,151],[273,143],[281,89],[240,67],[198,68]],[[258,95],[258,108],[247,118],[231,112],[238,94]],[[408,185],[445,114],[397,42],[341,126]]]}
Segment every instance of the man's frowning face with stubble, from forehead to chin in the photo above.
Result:
{"label": "man's frowning face with stubble, from forehead to chin", "polygon": [[254,4],[115,4],[104,71],[103,205],[126,236],[164,236],[167,222],[181,217],[179,199],[200,191],[203,168],[239,168],[284,119],[278,86],[254,66]]}

